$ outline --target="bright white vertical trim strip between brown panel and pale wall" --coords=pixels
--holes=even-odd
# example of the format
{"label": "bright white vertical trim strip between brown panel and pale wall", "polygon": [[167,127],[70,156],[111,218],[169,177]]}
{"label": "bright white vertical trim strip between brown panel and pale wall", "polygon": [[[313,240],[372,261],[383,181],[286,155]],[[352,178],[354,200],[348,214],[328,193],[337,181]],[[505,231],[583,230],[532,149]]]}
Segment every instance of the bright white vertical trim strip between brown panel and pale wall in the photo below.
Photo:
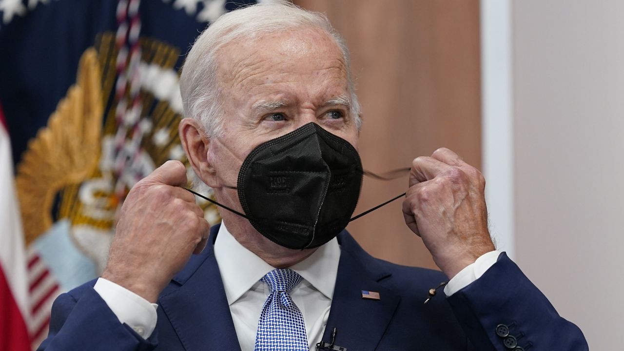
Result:
{"label": "bright white vertical trim strip between brown panel and pale wall", "polygon": [[509,0],[482,0],[482,171],[490,234],[499,250],[515,258],[512,27]]}

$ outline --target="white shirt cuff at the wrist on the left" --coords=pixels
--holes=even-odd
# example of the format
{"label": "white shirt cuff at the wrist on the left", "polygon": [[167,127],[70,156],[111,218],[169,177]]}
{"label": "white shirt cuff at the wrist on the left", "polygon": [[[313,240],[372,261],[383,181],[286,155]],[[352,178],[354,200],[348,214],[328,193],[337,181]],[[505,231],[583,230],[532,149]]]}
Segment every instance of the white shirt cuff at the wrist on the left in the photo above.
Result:
{"label": "white shirt cuff at the wrist on the left", "polygon": [[150,304],[134,292],[104,278],[97,279],[93,289],[100,294],[119,322],[129,325],[143,339],[152,335],[156,327],[157,304]]}

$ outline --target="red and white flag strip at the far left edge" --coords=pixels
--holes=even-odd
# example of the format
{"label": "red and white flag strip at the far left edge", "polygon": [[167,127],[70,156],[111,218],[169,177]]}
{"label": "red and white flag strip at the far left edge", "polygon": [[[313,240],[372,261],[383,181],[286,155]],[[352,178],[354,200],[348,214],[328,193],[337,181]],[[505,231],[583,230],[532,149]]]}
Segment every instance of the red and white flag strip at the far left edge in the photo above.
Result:
{"label": "red and white flag strip at the far left edge", "polygon": [[31,341],[24,233],[15,192],[11,142],[0,106],[0,350],[27,351]]}

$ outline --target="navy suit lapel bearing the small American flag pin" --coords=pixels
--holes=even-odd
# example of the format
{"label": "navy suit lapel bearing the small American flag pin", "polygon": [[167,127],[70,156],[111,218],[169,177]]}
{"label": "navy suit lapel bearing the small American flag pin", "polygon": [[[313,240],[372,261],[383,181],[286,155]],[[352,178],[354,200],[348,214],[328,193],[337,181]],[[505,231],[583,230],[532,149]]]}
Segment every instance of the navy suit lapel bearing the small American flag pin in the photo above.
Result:
{"label": "navy suit lapel bearing the small American flag pin", "polygon": [[[381,280],[390,274],[351,235],[344,231],[338,239],[341,244],[338,277],[323,341],[331,340],[335,327],[335,345],[348,350],[375,350],[401,298],[384,287]],[[381,299],[363,299],[362,290],[379,292]]]}

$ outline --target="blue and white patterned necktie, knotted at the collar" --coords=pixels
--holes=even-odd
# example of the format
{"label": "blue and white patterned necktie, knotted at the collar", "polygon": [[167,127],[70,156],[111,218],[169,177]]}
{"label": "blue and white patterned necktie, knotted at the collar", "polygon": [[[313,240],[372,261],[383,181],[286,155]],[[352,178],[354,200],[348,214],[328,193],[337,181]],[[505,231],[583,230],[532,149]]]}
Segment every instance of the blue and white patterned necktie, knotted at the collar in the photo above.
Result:
{"label": "blue and white patterned necktie, knotted at the collar", "polygon": [[274,269],[261,282],[271,288],[258,320],[255,351],[308,351],[306,325],[288,293],[303,280],[291,269]]}

